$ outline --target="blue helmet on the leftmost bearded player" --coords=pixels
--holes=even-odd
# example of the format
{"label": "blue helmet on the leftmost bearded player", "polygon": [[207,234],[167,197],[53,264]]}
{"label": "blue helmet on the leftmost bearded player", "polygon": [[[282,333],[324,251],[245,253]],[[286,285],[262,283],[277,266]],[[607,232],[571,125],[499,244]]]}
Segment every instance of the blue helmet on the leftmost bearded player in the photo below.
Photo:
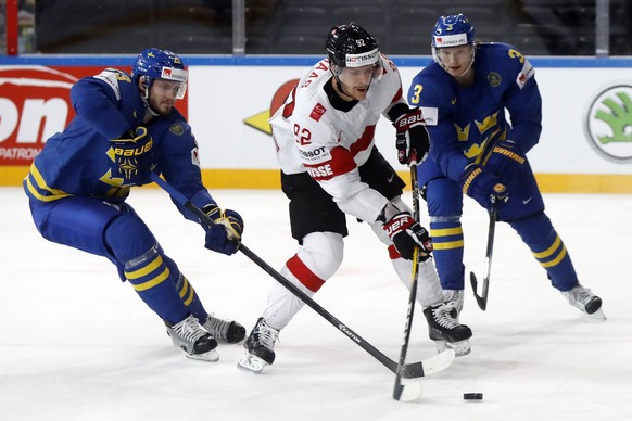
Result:
{"label": "blue helmet on the leftmost bearded player", "polygon": [[178,55],[168,50],[148,48],[136,58],[131,68],[135,81],[144,76],[144,86],[149,88],[155,79],[173,80],[182,84],[178,98],[185,97],[188,73]]}

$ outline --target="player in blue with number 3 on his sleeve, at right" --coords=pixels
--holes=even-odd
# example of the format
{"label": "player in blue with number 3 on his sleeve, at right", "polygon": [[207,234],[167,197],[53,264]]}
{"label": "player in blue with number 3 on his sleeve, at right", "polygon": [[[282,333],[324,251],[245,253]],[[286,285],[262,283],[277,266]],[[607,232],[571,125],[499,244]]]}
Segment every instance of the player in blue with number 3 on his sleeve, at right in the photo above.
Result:
{"label": "player in blue with number 3 on his sleeve, at right", "polygon": [[[460,312],[463,194],[486,209],[493,195],[498,220],[518,232],[553,286],[570,305],[605,318],[602,299],[579,283],[570,255],[544,213],[527,158],[542,130],[533,66],[513,46],[477,42],[473,26],[463,14],[439,18],[432,56],[434,63],[413,79],[408,103],[422,111],[431,139],[430,156],[418,175],[446,299]],[[405,145],[400,150],[405,163]]]}

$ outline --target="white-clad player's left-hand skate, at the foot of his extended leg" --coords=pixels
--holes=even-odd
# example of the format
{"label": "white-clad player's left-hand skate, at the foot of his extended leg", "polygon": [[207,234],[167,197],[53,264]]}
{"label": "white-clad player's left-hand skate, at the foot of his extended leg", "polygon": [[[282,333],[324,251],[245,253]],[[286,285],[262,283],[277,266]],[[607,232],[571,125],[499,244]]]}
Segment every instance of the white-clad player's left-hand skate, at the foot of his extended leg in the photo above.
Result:
{"label": "white-clad player's left-hand skate, at the foot of his extended leg", "polygon": [[275,362],[275,342],[278,335],[279,331],[270,328],[261,317],[245,340],[243,345],[245,354],[237,367],[256,374],[261,373],[266,366]]}

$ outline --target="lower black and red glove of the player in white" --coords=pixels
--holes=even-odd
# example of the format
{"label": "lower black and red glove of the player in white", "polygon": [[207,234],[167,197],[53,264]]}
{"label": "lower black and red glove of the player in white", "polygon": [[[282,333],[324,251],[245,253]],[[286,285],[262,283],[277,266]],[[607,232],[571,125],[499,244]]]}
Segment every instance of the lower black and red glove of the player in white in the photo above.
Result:
{"label": "lower black and red glove of the player in white", "polygon": [[432,252],[432,240],[428,231],[408,212],[396,214],[382,227],[400,256],[406,260],[413,260],[416,246],[421,247],[422,254]]}

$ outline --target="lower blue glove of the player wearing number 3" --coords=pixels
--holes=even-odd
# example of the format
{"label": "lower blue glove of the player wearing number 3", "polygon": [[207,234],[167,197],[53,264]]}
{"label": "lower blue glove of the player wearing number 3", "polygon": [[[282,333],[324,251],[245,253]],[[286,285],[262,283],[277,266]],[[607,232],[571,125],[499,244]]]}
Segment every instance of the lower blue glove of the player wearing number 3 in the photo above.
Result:
{"label": "lower blue glove of the player wearing number 3", "polygon": [[471,163],[465,167],[460,177],[460,188],[468,196],[476,200],[485,209],[491,209],[491,197],[496,197],[496,207],[503,205],[508,197],[508,191],[498,177],[489,169]]}

